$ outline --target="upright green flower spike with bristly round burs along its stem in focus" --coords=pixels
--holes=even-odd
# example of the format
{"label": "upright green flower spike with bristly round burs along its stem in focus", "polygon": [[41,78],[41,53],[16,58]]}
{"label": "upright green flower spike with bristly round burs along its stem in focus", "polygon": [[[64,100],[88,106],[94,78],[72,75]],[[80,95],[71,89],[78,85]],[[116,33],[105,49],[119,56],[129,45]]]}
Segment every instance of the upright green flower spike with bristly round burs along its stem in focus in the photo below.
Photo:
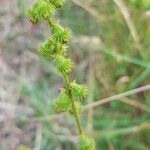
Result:
{"label": "upright green flower spike with bristly round burs along its stem in focus", "polygon": [[35,0],[31,8],[27,11],[27,16],[32,23],[47,21],[51,29],[50,37],[42,42],[38,47],[38,54],[47,61],[53,60],[57,70],[63,77],[64,88],[59,93],[58,98],[54,101],[53,106],[58,112],[70,113],[76,121],[79,132],[80,150],[94,150],[94,141],[83,135],[83,130],[78,117],[82,111],[80,101],[87,95],[85,85],[71,82],[70,73],[73,69],[73,62],[67,57],[67,42],[71,37],[71,30],[63,27],[53,17],[55,9],[60,8],[65,0]]}

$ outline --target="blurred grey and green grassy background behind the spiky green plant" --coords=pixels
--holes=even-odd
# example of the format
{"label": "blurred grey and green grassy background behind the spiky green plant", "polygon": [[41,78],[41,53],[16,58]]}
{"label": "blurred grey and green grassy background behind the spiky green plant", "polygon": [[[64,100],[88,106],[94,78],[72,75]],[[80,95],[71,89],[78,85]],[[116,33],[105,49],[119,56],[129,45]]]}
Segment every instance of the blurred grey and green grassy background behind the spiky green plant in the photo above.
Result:
{"label": "blurred grey and green grassy background behind the spiky green plant", "polygon": [[[74,120],[51,106],[63,82],[37,56],[50,31],[25,17],[31,2],[0,1],[0,150],[76,150]],[[84,105],[150,85],[149,0],[67,0],[56,18],[73,31],[71,78],[88,85]],[[81,120],[97,150],[149,150],[150,90],[86,110]]]}

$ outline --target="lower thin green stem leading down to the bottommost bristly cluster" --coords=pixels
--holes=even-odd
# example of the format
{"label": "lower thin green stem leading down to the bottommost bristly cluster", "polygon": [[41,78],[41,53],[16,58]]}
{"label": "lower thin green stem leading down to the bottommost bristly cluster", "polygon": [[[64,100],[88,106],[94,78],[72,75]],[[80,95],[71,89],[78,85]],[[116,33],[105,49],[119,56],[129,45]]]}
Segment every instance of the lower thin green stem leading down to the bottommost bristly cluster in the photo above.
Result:
{"label": "lower thin green stem leading down to the bottommost bristly cluster", "polygon": [[79,117],[78,117],[78,114],[77,114],[77,111],[76,111],[75,103],[74,103],[74,100],[72,98],[72,94],[71,94],[71,91],[70,91],[69,78],[65,74],[63,74],[63,78],[64,78],[64,82],[65,82],[65,85],[66,85],[66,90],[67,90],[68,96],[69,96],[70,101],[71,101],[71,106],[72,106],[72,110],[74,112],[74,117],[75,117],[76,125],[78,127],[78,132],[79,132],[80,135],[82,135],[82,127],[81,127],[80,120],[79,120]]}

